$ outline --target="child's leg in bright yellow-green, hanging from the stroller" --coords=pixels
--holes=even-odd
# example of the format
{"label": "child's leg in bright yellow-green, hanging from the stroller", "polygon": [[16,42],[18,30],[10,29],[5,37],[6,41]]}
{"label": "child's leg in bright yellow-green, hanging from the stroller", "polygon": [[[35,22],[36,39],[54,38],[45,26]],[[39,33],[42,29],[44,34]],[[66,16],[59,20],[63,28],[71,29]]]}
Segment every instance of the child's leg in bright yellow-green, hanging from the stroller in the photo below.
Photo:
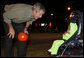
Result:
{"label": "child's leg in bright yellow-green, hanging from the stroller", "polygon": [[59,47],[64,43],[63,40],[55,40],[53,42],[53,45],[49,51],[51,51],[51,54],[57,54]]}

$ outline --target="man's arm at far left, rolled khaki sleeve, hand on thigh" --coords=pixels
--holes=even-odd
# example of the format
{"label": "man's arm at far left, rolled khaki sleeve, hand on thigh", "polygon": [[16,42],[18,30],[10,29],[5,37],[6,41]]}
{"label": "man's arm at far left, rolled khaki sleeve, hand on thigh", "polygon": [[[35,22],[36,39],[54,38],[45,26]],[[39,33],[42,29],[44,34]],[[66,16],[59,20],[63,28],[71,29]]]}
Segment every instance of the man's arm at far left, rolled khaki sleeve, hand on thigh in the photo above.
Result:
{"label": "man's arm at far left, rolled khaki sleeve, hand on thigh", "polygon": [[9,13],[5,12],[5,13],[3,13],[3,18],[4,18],[4,22],[6,22],[9,26],[9,33],[7,35],[9,36],[9,38],[11,38],[11,37],[14,38],[15,31],[14,31],[13,26],[11,24],[12,16],[9,16]]}

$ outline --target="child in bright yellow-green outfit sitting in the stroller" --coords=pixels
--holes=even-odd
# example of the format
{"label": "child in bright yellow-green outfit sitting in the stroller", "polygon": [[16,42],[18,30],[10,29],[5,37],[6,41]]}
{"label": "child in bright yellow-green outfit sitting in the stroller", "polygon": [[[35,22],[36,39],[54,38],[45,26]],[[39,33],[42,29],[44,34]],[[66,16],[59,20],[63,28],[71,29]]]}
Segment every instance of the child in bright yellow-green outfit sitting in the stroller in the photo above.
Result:
{"label": "child in bright yellow-green outfit sitting in the stroller", "polygon": [[52,44],[52,47],[48,50],[48,52],[51,52],[52,56],[57,55],[59,47],[65,42],[64,40],[69,40],[78,30],[78,26],[76,24],[78,18],[72,19],[74,17],[74,14],[75,12],[71,12],[69,16],[70,23],[67,31],[63,34],[63,40],[55,40]]}

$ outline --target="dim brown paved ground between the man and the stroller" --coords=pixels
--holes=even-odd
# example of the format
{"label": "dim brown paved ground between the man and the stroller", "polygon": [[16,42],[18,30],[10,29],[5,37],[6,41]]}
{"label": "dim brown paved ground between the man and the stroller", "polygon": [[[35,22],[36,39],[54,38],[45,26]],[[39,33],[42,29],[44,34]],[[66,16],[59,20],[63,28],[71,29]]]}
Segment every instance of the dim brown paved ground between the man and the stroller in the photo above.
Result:
{"label": "dim brown paved ground between the man and the stroller", "polygon": [[[31,33],[26,57],[51,57],[47,50],[51,47],[54,40],[60,38],[61,35],[57,33]],[[4,57],[4,41],[1,44],[1,56]],[[17,49],[15,45],[14,56],[17,57]]]}

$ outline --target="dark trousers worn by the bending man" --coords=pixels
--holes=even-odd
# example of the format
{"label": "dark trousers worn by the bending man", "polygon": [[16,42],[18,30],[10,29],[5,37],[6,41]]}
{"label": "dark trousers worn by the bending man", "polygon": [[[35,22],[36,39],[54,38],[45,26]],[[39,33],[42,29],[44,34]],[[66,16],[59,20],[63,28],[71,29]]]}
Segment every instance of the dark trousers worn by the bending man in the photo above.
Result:
{"label": "dark trousers worn by the bending man", "polygon": [[[27,48],[27,41],[19,41],[17,39],[17,35],[19,32],[23,32],[26,23],[14,23],[12,22],[12,26],[15,30],[15,37],[14,39],[9,38],[8,36],[5,37],[5,57],[13,57],[13,42],[16,40],[17,45],[17,56],[18,57],[25,57],[26,56],[26,48]],[[8,24],[4,23],[4,28],[6,34],[9,32]]]}

